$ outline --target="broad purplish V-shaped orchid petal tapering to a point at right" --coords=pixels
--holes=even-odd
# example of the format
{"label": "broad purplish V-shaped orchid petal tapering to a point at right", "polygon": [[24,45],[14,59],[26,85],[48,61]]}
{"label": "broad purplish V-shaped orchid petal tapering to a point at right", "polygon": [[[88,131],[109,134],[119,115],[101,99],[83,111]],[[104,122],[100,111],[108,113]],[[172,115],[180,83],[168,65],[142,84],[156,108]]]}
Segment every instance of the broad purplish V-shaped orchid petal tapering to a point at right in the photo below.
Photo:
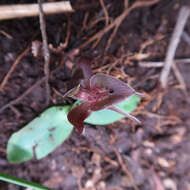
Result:
{"label": "broad purplish V-shaped orchid petal tapering to a point at right", "polygon": [[135,94],[135,90],[125,82],[103,73],[98,73],[90,78],[90,87],[93,89],[96,86],[108,89],[110,94],[103,100],[96,102],[92,107],[93,111],[118,104]]}

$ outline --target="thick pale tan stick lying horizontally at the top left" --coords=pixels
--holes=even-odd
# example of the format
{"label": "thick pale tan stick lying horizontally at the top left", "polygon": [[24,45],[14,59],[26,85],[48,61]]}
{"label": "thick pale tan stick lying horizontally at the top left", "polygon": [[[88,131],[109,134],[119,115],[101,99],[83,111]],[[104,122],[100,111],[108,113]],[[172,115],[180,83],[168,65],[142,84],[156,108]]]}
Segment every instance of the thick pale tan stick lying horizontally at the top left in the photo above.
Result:
{"label": "thick pale tan stick lying horizontally at the top left", "polygon": [[[45,14],[70,13],[74,10],[69,1],[44,3]],[[33,17],[39,15],[38,4],[0,6],[0,20]]]}

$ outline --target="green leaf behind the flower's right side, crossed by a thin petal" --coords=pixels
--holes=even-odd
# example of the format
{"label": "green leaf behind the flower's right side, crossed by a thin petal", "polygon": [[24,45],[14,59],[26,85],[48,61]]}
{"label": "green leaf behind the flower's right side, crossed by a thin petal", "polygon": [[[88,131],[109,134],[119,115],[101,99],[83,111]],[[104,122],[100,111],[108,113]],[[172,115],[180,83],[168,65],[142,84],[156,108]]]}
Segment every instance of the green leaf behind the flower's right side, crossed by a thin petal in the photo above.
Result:
{"label": "green leaf behind the flower's right side, crossed by a thin petal", "polygon": [[[139,102],[140,97],[132,95],[127,100],[117,104],[116,107],[127,113],[131,113],[138,106]],[[93,112],[85,120],[85,122],[93,125],[108,125],[110,123],[120,120],[121,118],[124,118],[124,116],[117,112],[114,112],[112,110],[101,110]]]}

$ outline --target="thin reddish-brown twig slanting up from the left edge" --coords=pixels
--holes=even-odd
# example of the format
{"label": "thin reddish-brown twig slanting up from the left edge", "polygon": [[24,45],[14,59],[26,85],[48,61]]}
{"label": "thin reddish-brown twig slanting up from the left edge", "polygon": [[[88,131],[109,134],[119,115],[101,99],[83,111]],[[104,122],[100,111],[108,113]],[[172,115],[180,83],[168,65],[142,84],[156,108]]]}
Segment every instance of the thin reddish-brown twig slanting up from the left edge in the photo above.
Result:
{"label": "thin reddish-brown twig slanting up from the left edge", "polygon": [[0,92],[3,90],[4,86],[6,85],[7,81],[9,80],[9,77],[11,76],[12,72],[15,70],[16,66],[19,64],[19,62],[21,61],[21,59],[29,52],[30,50],[30,46],[28,46],[15,60],[15,62],[13,63],[11,69],[9,70],[9,72],[6,74],[6,76],[4,77],[2,83],[0,84]]}

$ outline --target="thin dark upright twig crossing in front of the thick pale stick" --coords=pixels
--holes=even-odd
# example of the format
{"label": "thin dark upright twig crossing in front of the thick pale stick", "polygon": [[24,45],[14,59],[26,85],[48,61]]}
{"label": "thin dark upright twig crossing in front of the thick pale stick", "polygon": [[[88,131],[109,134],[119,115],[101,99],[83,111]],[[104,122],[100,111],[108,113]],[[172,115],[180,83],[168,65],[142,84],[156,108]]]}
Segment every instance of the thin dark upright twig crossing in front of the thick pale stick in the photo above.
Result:
{"label": "thin dark upright twig crossing in front of the thick pale stick", "polygon": [[39,4],[40,30],[41,30],[41,34],[42,34],[43,54],[44,54],[44,61],[45,61],[44,74],[46,76],[46,80],[45,80],[46,105],[48,105],[49,101],[50,101],[50,86],[49,86],[50,52],[49,52],[48,42],[47,42],[46,23],[45,23],[43,8],[42,8],[42,0],[38,0],[38,4]]}

